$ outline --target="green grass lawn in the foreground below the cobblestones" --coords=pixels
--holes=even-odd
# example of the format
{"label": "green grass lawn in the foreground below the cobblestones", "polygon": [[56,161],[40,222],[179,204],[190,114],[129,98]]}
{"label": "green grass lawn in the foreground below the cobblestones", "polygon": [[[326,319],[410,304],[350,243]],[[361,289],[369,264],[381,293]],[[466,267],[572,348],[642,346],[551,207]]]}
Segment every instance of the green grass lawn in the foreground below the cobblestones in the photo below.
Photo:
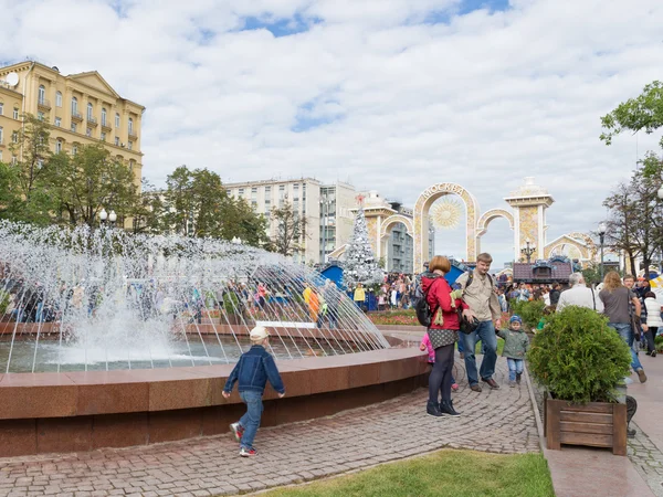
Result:
{"label": "green grass lawn in the foreground below the cobblestones", "polygon": [[501,455],[443,450],[352,475],[274,489],[265,496],[555,497],[555,493],[543,454]]}

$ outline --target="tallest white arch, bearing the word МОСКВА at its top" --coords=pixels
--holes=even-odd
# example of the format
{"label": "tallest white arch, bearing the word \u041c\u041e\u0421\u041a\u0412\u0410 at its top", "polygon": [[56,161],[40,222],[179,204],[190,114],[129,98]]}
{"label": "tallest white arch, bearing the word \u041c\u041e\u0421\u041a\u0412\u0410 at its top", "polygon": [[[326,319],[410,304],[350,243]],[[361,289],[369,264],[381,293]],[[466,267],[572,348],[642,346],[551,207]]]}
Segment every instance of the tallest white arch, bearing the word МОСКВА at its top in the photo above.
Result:
{"label": "tallest white arch, bearing the word \u041c\u041e\u0421\u041a\u0412\u0410 at its top", "polygon": [[429,252],[429,211],[441,197],[456,194],[465,203],[466,210],[466,247],[467,258],[476,258],[478,221],[478,202],[467,190],[456,183],[438,183],[427,188],[414,205],[414,271],[423,269],[423,254]]}

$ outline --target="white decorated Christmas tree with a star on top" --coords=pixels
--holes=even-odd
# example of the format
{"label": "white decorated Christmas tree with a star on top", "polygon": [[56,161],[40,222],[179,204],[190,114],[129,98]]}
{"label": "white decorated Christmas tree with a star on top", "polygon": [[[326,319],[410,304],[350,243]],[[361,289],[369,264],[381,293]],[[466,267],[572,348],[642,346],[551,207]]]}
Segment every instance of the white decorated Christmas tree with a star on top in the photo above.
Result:
{"label": "white decorated Christmas tree with a star on top", "polygon": [[358,283],[370,287],[383,282],[385,273],[378,266],[372,247],[368,240],[368,226],[364,209],[359,207],[355,218],[352,236],[348,242],[343,262],[343,279],[348,288],[354,288]]}

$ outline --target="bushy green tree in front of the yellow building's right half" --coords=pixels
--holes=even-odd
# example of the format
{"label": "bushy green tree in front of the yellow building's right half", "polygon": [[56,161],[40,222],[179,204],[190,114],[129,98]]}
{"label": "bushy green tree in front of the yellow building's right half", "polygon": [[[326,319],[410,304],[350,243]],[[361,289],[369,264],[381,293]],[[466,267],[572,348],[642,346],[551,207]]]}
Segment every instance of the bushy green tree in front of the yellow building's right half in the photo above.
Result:
{"label": "bushy green tree in front of the yellow building's right half", "polygon": [[75,156],[53,156],[48,172],[60,219],[72,225],[94,226],[102,209],[112,209],[122,226],[138,201],[133,171],[102,145],[83,146]]}

